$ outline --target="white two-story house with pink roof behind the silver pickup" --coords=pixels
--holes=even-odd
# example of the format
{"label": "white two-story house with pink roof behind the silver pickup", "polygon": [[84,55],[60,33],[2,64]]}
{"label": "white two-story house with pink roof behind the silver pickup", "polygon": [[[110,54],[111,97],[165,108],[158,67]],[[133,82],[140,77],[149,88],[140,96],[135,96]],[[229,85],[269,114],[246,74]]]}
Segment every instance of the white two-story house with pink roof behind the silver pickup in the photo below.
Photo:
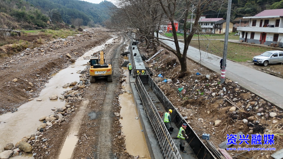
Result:
{"label": "white two-story house with pink roof behind the silver pickup", "polygon": [[270,45],[283,41],[283,9],[264,10],[243,19],[249,19],[249,26],[237,27],[243,42]]}

